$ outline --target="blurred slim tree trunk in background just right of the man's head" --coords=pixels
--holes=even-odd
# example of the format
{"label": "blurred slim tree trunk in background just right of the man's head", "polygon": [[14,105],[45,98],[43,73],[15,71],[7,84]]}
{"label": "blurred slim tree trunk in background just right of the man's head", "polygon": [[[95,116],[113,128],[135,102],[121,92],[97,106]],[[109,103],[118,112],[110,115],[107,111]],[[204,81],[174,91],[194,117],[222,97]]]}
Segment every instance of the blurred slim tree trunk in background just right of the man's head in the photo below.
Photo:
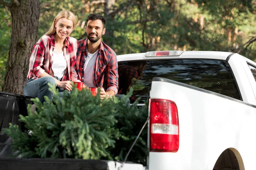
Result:
{"label": "blurred slim tree trunk in background just right of the man's head", "polygon": [[105,0],[105,11],[104,11],[104,15],[105,18],[107,20],[107,28],[106,29],[106,33],[105,33],[105,37],[104,38],[104,42],[110,46],[111,48],[113,48],[114,45],[114,41],[113,41],[113,37],[114,37],[114,31],[113,31],[113,23],[114,23],[114,19],[115,16],[114,15],[109,15],[111,14],[111,12],[113,12],[113,5],[115,4],[115,0]]}

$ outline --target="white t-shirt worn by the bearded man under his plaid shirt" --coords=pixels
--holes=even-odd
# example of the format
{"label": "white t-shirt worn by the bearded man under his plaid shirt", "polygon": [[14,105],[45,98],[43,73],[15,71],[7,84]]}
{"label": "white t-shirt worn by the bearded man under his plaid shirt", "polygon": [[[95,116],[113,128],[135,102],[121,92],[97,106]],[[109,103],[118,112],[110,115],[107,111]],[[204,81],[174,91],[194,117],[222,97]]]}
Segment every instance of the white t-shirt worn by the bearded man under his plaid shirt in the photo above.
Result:
{"label": "white t-shirt worn by the bearded man under his plaid shirt", "polygon": [[97,50],[93,54],[88,53],[86,61],[84,63],[84,85],[89,88],[95,88],[94,81],[93,81],[94,80],[93,69],[96,62],[98,51],[99,50]]}

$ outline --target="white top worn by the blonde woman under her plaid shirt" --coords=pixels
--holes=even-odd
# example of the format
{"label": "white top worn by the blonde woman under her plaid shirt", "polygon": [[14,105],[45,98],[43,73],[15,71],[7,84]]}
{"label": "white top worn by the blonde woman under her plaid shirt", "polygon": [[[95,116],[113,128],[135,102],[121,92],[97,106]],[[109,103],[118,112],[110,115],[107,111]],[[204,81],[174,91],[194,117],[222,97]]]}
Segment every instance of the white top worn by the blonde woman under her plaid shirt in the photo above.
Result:
{"label": "white top worn by the blonde woman under her plaid shirt", "polygon": [[53,50],[52,57],[52,71],[54,72],[54,76],[61,79],[64,75],[65,69],[67,68],[67,61],[64,57],[63,51],[61,53],[57,53]]}

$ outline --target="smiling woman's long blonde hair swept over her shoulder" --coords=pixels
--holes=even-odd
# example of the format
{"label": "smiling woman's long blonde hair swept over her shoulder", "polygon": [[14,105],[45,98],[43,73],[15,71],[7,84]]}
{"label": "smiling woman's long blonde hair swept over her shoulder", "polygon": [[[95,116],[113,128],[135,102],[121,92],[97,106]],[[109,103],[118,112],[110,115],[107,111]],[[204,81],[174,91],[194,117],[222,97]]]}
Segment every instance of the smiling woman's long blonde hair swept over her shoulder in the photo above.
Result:
{"label": "smiling woman's long blonde hair swept over her shoulder", "polygon": [[76,26],[76,16],[73,14],[73,12],[71,11],[61,11],[60,13],[57,14],[57,16],[55,17],[54,21],[52,22],[52,26],[49,29],[49,31],[47,31],[47,33],[45,33],[44,35],[52,35],[56,33],[56,28],[55,28],[55,21],[58,22],[59,19],[61,18],[67,18],[68,20],[71,20],[73,22],[73,27]]}

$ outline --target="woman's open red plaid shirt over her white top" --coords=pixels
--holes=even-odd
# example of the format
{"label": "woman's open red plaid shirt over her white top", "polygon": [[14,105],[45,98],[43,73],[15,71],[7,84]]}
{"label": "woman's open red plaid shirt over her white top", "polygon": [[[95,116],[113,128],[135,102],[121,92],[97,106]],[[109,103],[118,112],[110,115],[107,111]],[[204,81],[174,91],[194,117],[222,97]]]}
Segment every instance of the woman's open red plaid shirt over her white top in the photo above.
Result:
{"label": "woman's open red plaid shirt over her white top", "polygon": [[[38,79],[39,76],[46,72],[47,74],[54,76],[52,71],[52,55],[55,48],[55,37],[53,35],[44,35],[34,45],[32,54],[29,59],[29,72],[27,79]],[[66,45],[63,50],[64,57],[67,61],[67,69],[64,72],[62,81],[73,79],[75,76],[73,73],[74,66],[76,64],[76,51],[78,48],[78,42],[73,37],[66,38]]]}

